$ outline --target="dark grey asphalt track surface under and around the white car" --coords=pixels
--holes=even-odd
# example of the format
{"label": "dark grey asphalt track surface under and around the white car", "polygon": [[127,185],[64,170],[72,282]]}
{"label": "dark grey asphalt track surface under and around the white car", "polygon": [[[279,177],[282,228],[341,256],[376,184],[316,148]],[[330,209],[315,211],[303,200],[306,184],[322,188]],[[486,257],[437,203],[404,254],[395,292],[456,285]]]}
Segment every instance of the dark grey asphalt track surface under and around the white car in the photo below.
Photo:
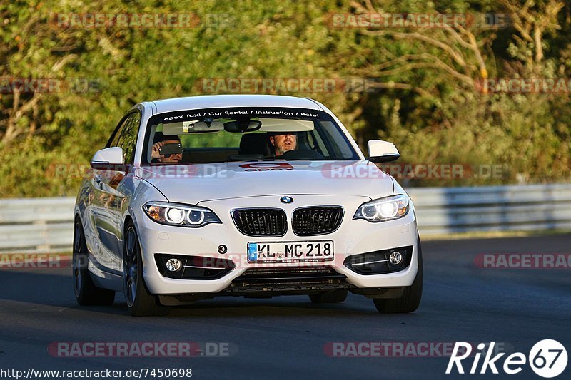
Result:
{"label": "dark grey asphalt track surface under and around the white car", "polygon": [[[350,294],[343,304],[324,306],[307,297],[224,297],[173,309],[167,317],[134,318],[126,312],[123,294],[113,307],[79,307],[69,267],[1,269],[0,377],[9,378],[1,372],[9,369],[25,375],[28,369],[124,374],[128,369],[191,368],[193,379],[480,378],[455,371],[445,375],[449,354],[438,344],[495,341],[527,356],[536,342],[556,339],[571,355],[571,269],[481,269],[475,257],[570,252],[571,235],[423,242],[423,302],[417,312],[401,315],[379,314],[370,299]],[[60,348],[69,342],[69,349],[57,351],[58,342]],[[199,342],[210,354],[218,350],[224,355],[62,356],[73,354],[74,342],[75,347],[78,342]],[[393,357],[378,352],[373,357],[330,356],[333,342],[338,343],[335,355],[354,354],[350,344],[339,342],[385,342],[406,349],[412,342],[418,352],[400,354],[394,348]],[[423,356],[423,343],[432,344],[431,356]],[[465,371],[472,360],[463,361]],[[538,378],[527,364],[508,376],[502,361],[497,362],[499,375],[490,376],[489,369],[487,375]],[[569,367],[558,378],[570,379]],[[146,378],[152,379],[149,371]]]}

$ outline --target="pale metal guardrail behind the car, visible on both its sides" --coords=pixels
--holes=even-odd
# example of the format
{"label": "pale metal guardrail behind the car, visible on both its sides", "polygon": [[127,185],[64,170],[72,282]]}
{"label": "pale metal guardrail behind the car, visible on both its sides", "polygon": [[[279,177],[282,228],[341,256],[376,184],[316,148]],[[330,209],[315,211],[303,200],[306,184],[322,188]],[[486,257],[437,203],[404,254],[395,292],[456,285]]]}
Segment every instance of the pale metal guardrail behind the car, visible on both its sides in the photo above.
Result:
{"label": "pale metal guardrail behind the car, visible on both its sides", "polygon": [[[411,188],[421,235],[571,230],[570,185]],[[74,197],[0,200],[0,252],[66,252]]]}

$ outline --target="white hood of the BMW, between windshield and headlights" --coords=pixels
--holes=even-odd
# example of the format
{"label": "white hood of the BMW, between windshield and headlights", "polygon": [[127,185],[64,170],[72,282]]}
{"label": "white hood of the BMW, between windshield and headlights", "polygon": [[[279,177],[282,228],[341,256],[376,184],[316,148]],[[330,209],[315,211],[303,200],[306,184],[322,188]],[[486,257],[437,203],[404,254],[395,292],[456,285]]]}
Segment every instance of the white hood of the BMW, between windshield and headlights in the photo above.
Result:
{"label": "white hood of the BMW, between windshield and headlights", "polygon": [[192,165],[145,165],[137,177],[170,202],[197,204],[262,195],[393,195],[390,175],[362,161],[253,161]]}

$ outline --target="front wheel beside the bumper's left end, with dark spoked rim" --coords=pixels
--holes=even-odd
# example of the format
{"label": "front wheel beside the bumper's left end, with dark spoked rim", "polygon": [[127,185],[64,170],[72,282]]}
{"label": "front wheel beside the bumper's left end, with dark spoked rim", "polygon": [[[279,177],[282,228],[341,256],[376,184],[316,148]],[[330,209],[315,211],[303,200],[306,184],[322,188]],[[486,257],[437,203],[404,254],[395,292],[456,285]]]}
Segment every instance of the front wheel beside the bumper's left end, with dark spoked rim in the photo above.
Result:
{"label": "front wheel beside the bumper's left end, with dark spoked rim", "polygon": [[141,245],[132,222],[127,225],[123,248],[123,294],[133,317],[168,314],[168,307],[161,306],[145,285]]}

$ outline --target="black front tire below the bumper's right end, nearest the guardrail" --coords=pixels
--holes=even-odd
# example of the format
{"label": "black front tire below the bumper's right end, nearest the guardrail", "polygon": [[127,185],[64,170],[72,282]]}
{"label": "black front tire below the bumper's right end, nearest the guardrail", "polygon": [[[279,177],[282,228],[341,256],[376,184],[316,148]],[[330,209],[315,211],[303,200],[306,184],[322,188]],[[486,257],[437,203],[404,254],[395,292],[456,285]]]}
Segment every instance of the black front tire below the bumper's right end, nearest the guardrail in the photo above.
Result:
{"label": "black front tire below the bumper's right end, nearest the guardrail", "polygon": [[418,237],[418,272],[410,287],[405,288],[405,292],[400,298],[395,299],[373,299],[375,307],[380,313],[411,313],[418,309],[420,299],[423,297],[423,250],[420,247],[420,237]]}

